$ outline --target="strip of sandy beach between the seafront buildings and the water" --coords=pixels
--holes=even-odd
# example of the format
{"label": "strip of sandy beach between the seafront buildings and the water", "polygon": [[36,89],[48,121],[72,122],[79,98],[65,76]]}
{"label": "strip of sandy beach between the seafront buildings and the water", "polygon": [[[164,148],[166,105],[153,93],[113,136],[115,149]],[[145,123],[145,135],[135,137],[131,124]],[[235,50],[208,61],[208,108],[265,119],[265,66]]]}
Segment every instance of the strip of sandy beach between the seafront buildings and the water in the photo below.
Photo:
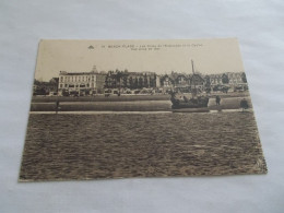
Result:
{"label": "strip of sandy beach between the seafront buildings and the water", "polygon": [[[221,105],[216,106],[215,95],[221,96]],[[86,96],[86,97],[33,97],[31,111],[169,111],[170,96],[165,95],[126,95],[126,96]],[[239,109],[240,100],[246,98],[249,108],[252,107],[248,93],[214,94],[209,100],[209,110]]]}

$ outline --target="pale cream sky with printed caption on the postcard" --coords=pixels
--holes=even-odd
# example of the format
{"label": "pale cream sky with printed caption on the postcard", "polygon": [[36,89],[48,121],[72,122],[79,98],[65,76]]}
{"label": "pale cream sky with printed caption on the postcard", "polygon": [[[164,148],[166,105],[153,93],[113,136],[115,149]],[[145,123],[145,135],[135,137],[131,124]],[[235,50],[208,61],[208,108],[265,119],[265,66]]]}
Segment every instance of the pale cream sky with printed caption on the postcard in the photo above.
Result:
{"label": "pale cream sky with printed caption on the postcard", "polygon": [[125,70],[202,74],[244,72],[236,38],[170,40],[40,40],[35,79],[49,81],[60,71]]}

